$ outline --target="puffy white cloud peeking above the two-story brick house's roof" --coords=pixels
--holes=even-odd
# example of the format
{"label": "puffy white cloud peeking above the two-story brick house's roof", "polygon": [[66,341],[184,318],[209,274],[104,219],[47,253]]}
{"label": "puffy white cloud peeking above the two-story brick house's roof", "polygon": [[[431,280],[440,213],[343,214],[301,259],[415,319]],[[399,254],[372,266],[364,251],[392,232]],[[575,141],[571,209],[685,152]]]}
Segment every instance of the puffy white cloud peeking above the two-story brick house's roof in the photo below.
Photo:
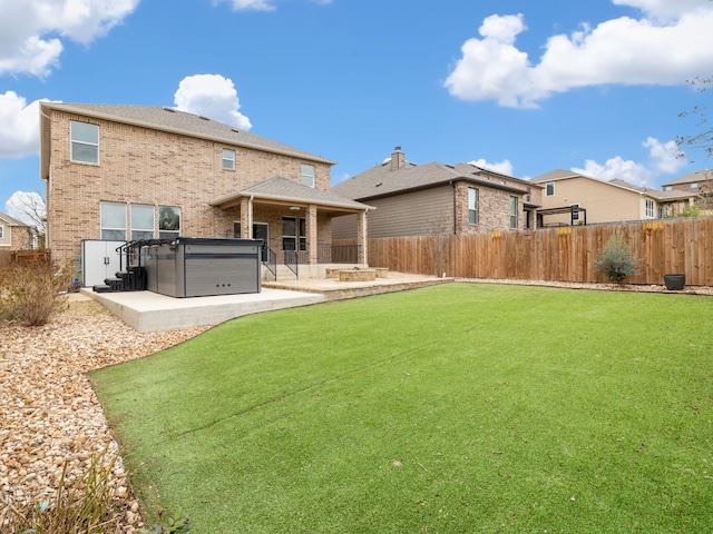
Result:
{"label": "puffy white cloud peeking above the two-story brick house's roof", "polygon": [[237,90],[221,75],[195,75],[180,80],[174,95],[174,102],[182,111],[203,115],[241,130],[250,130],[250,119],[238,112],[241,109]]}

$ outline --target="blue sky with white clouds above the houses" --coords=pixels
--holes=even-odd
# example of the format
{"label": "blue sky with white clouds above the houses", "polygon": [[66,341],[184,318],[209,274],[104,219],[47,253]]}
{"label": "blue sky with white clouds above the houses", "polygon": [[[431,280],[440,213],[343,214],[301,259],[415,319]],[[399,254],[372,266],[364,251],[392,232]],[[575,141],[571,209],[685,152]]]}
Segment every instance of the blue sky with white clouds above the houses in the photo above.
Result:
{"label": "blue sky with white clouds above the houses", "polygon": [[713,75],[711,28],[710,0],[0,0],[0,210],[45,195],[39,100],[206,115],[333,184],[398,145],[658,187],[710,167],[673,141],[710,100],[686,80]]}

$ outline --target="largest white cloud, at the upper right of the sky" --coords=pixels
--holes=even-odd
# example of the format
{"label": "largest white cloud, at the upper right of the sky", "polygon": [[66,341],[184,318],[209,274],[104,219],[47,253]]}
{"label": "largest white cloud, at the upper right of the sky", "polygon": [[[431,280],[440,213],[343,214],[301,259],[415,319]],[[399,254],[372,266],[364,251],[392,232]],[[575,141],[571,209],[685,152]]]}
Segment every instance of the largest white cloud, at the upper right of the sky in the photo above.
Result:
{"label": "largest white cloud, at the upper right of the sky", "polygon": [[[547,40],[539,63],[515,46],[526,30],[524,17],[494,14],[461,47],[443,86],[463,100],[497,100],[500,106],[536,107],[556,92],[578,87],[678,85],[713,70],[713,2],[709,0],[613,0],[642,10],[595,28]],[[675,3],[675,4],[674,4]]]}

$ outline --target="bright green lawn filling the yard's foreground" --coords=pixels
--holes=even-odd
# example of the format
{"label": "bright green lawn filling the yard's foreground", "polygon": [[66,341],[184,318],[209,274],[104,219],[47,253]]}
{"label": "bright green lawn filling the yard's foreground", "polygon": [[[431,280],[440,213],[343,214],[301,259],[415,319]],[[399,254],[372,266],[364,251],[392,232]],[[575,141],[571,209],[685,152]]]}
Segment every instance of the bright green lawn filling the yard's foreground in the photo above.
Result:
{"label": "bright green lawn filling the yard's foreground", "polygon": [[199,533],[713,532],[713,298],[448,284],[91,375]]}

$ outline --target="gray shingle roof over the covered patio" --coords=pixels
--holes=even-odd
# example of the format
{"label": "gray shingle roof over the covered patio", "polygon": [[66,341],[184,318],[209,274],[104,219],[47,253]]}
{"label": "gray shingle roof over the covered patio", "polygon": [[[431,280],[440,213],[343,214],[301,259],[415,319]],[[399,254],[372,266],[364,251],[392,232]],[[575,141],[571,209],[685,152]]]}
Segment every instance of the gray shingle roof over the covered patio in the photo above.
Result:
{"label": "gray shingle roof over the covered patio", "polygon": [[291,202],[316,204],[348,210],[364,210],[370,207],[365,204],[351,200],[332,191],[322,191],[312,187],[297,184],[286,178],[275,177],[260,184],[250,186],[241,191],[217,198],[211,202],[219,206],[234,201],[241,197],[256,197],[262,199],[285,200]]}

